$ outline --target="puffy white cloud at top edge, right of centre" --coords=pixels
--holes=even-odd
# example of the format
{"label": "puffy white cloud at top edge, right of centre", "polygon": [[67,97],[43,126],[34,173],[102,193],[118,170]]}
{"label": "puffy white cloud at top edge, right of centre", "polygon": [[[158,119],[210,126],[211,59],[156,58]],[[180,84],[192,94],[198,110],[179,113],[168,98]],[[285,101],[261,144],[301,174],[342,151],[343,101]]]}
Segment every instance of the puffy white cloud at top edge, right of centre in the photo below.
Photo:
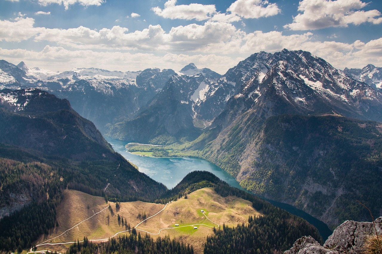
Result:
{"label": "puffy white cloud at top edge, right of centre", "polygon": [[227,11],[243,18],[261,18],[280,13],[277,4],[267,0],[236,0]]}

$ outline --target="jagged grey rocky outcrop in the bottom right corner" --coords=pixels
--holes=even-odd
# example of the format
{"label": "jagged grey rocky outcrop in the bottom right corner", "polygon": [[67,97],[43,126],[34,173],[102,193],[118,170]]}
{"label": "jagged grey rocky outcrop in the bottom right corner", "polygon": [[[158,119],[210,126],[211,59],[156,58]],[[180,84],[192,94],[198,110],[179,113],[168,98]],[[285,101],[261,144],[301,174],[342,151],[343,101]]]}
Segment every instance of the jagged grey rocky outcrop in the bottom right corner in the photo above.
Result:
{"label": "jagged grey rocky outcrop in the bottom right corner", "polygon": [[[374,221],[377,234],[382,234],[382,217]],[[365,238],[375,234],[372,222],[345,221],[321,246],[311,236],[299,238],[284,254],[347,254],[363,252]]]}

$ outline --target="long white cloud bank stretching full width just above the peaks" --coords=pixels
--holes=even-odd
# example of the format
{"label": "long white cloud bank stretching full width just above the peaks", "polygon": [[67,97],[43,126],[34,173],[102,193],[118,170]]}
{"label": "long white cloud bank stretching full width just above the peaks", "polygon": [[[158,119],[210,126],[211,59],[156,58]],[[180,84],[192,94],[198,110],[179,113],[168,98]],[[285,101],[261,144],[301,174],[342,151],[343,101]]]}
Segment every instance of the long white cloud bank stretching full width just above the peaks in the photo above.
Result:
{"label": "long white cloud bank stretching full width just above the peaks", "polygon": [[[332,37],[332,39],[334,39],[335,35],[333,34]],[[377,66],[382,65],[382,38],[369,42],[322,42],[315,41],[317,38],[310,32],[288,35],[285,35],[280,31],[270,31],[267,33],[255,31],[253,33],[246,33],[241,31],[241,29],[237,29],[233,24],[213,21],[207,21],[202,25],[189,24],[187,26],[177,26],[173,27],[168,32],[165,32],[160,25],[149,25],[148,28],[141,31],[137,30],[129,32],[127,28],[121,26],[113,26],[110,29],[103,28],[99,30],[83,26],[71,29],[34,27],[34,19],[28,17],[18,17],[13,20],[0,20],[0,41],[20,42],[28,39],[34,39],[34,41],[39,43],[55,43],[55,45],[62,46],[47,46],[43,52],[37,53],[28,51],[28,54],[37,57],[37,59],[41,59],[39,58],[39,54],[43,53],[42,55],[45,55],[47,59],[50,59],[49,61],[54,61],[56,57],[57,62],[66,61],[74,63],[75,61],[78,61],[79,63],[83,63],[83,66],[85,66],[87,62],[82,61],[80,59],[81,57],[89,60],[88,63],[90,64],[99,62],[95,60],[96,56],[99,57],[98,59],[103,59],[105,55],[112,55],[113,57],[118,58],[120,51],[147,50],[151,52],[150,54],[143,54],[147,59],[152,55],[161,55],[161,57],[167,56],[168,61],[173,61],[171,63],[172,66],[183,64],[184,62],[182,61],[186,61],[185,63],[197,63],[196,60],[198,57],[210,60],[224,59],[224,63],[211,63],[216,66],[222,64],[221,68],[217,66],[215,67],[215,70],[219,70],[220,73],[223,73],[222,70],[225,70],[225,67],[234,66],[237,64],[236,60],[239,58],[244,59],[245,57],[248,57],[248,55],[262,50],[273,53],[280,51],[283,48],[289,50],[308,50],[313,54],[324,58],[337,68],[363,67],[368,63],[373,63]],[[70,47],[74,50],[67,50],[63,47]],[[114,53],[115,51],[119,51],[119,53]],[[12,54],[16,54],[17,52],[17,54],[21,54],[20,52],[24,52],[23,54],[28,56],[28,54],[25,53],[27,51],[22,50],[6,51],[6,49],[3,49],[3,52],[13,52]],[[169,52],[171,52],[171,54]],[[86,57],[85,55],[87,53],[94,56],[94,59]],[[138,59],[137,54],[123,53],[123,55],[126,59],[128,59],[128,57],[137,57]],[[193,58],[196,55],[197,57]],[[212,57],[212,55],[214,55],[214,57]],[[72,56],[74,59],[70,59]],[[206,56],[209,57],[206,58]],[[121,56],[121,58],[123,57]],[[32,57],[29,59],[32,59]],[[147,60],[147,62],[134,64],[137,64],[136,66],[139,68],[141,68],[141,66],[142,68],[147,68],[152,66],[153,63],[157,64],[157,62],[163,64],[163,68],[173,68],[165,65],[164,60],[160,57],[152,58],[151,62]],[[57,66],[59,65],[58,63],[55,64]],[[113,64],[111,60],[110,62],[101,64],[113,67],[117,66],[117,64]],[[72,67],[73,66],[74,65],[72,65]],[[156,67],[160,66],[157,65]],[[110,68],[111,67],[108,67],[108,69]],[[175,69],[178,70],[177,68]]]}

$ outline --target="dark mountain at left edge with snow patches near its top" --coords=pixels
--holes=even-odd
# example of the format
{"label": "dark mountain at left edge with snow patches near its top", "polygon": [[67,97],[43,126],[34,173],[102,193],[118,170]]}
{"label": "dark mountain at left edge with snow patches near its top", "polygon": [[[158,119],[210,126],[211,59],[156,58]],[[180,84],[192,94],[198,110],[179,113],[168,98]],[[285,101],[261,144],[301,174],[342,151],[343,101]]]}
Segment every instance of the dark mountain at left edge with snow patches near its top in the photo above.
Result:
{"label": "dark mountain at left edge with snow patches near its top", "polygon": [[[42,90],[2,90],[0,142],[69,159],[116,160],[111,146],[66,99]],[[11,128],[10,128],[11,127]]]}

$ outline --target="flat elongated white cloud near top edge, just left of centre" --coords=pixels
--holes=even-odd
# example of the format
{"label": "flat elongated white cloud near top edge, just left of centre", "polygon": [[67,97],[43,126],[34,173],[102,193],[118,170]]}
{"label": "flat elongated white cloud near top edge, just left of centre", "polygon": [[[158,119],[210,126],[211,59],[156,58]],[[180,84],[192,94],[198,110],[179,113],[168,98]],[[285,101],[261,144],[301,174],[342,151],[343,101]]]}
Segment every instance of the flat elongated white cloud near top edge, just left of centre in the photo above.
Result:
{"label": "flat elongated white cloud near top edge, just left of centre", "polygon": [[202,5],[199,3],[191,3],[189,5],[175,5],[176,0],[168,0],[165,3],[165,8],[154,7],[152,10],[156,15],[170,19],[184,20],[208,20],[216,13],[215,5]]}

